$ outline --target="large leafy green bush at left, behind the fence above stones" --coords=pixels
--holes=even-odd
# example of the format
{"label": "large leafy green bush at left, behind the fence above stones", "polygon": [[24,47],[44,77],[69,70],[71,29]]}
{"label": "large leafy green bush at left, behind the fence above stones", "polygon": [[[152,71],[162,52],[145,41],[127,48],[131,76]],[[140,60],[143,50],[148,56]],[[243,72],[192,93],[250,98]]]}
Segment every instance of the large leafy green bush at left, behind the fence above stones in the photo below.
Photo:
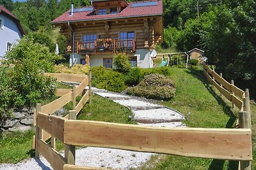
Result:
{"label": "large leafy green bush at left, behind the fence above stones", "polygon": [[[53,71],[53,62],[60,56],[49,52],[49,48],[22,38],[9,52],[8,62],[15,64],[9,74],[12,81],[9,90],[15,90],[14,106],[33,106],[55,94],[55,79],[40,74]],[[9,106],[12,106],[10,104]]]}

